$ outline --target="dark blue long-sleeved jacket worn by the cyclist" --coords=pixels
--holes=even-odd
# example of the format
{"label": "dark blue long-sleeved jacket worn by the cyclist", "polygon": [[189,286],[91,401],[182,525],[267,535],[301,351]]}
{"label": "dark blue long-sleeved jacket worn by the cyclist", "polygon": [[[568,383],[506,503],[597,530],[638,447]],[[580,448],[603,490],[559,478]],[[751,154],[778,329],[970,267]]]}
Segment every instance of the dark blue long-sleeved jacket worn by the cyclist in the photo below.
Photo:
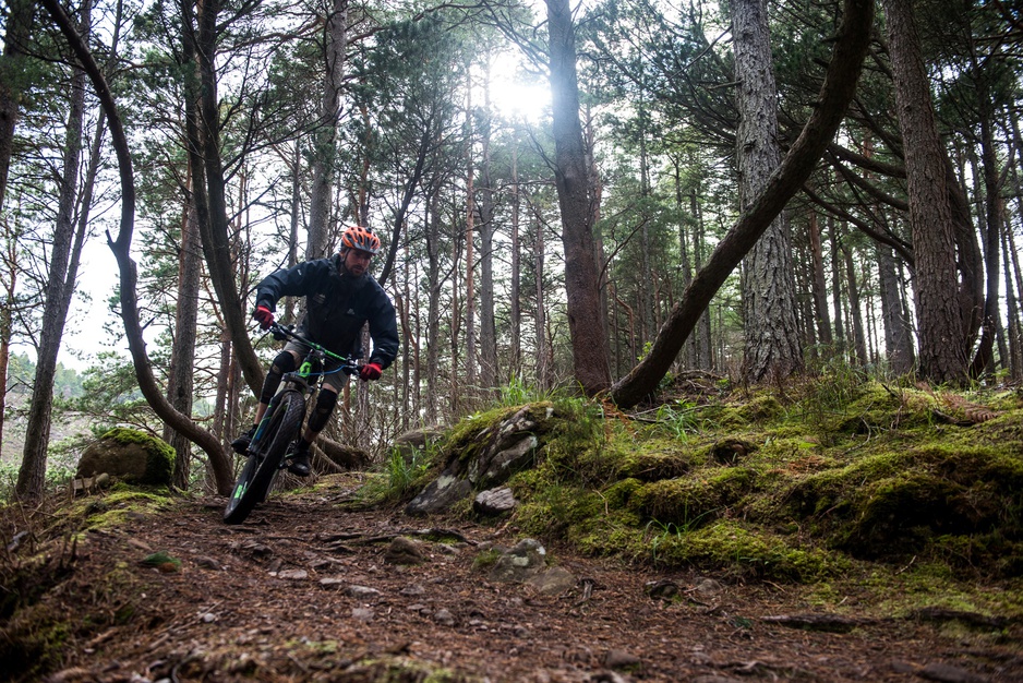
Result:
{"label": "dark blue long-sleeved jacket worn by the cyclist", "polygon": [[398,323],[384,288],[364,273],[352,277],[338,254],[267,275],[256,286],[256,305],[274,311],[281,297],[305,297],[299,333],[335,354],[362,357],[362,325],[370,323],[370,362],[387,368],[398,355]]}

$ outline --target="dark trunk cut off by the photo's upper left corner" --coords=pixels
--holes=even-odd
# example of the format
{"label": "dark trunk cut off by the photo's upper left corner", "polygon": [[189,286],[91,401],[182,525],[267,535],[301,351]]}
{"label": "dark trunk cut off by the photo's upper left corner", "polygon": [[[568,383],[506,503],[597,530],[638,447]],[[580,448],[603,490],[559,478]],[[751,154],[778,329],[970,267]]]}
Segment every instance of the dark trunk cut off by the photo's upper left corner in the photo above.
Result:
{"label": "dark trunk cut off by the photo's upper left corner", "polygon": [[17,109],[22,92],[28,86],[24,73],[27,59],[25,48],[32,35],[36,3],[33,0],[8,0],[7,5],[7,33],[3,37],[3,55],[0,57],[0,208],[3,208],[7,196]]}

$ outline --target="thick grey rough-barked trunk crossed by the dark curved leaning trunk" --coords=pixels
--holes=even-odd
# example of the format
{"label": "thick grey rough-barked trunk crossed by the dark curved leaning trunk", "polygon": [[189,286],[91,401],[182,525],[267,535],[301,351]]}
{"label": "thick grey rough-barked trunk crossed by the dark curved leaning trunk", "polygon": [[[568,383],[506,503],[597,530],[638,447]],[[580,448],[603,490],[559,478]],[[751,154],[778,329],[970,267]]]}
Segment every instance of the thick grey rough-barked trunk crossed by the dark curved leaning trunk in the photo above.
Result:
{"label": "thick grey rough-barked trunk crossed by the dark curved leaning trunk", "polygon": [[[732,39],[738,82],[736,156],[745,209],[767,185],[781,158],[767,0],[732,2]],[[747,382],[786,378],[803,370],[791,252],[782,212],[745,262],[743,376]]]}

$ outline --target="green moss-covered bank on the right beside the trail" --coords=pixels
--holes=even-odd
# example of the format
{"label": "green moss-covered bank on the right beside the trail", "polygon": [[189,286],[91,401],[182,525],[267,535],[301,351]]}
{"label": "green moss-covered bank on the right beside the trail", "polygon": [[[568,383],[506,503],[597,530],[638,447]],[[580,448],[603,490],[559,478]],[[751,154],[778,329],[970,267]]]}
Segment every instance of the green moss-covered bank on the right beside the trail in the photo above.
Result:
{"label": "green moss-covered bank on the right beside the trail", "polygon": [[782,393],[669,398],[635,416],[578,410],[589,419],[553,428],[535,467],[509,480],[523,534],[738,579],[925,565],[950,580],[1023,575],[1019,392],[837,367]]}

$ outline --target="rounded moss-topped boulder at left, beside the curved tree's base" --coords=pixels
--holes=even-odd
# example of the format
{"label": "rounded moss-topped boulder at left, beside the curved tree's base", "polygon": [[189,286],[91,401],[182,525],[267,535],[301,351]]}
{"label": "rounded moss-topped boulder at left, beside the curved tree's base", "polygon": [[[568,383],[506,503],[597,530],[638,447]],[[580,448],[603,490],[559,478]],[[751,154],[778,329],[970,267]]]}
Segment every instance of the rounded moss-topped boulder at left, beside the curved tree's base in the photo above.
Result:
{"label": "rounded moss-topped boulder at left, beside the curved tree's base", "polygon": [[163,439],[118,427],[89,444],[79,459],[76,479],[99,475],[129,483],[169,486],[174,476],[174,450]]}

